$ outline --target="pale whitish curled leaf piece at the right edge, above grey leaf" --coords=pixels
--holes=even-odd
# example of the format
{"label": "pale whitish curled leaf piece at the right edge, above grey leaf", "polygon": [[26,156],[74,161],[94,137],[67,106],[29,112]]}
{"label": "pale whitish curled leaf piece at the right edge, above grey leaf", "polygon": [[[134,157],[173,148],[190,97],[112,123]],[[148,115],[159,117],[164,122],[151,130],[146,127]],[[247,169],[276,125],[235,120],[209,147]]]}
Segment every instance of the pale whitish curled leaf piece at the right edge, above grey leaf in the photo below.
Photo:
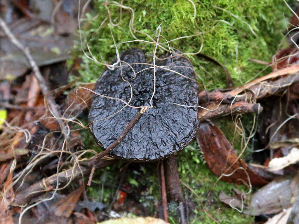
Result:
{"label": "pale whitish curled leaf piece at the right edge, above grey leaf", "polygon": [[299,149],[292,148],[287,156],[271,159],[268,165],[270,171],[280,170],[299,161]]}

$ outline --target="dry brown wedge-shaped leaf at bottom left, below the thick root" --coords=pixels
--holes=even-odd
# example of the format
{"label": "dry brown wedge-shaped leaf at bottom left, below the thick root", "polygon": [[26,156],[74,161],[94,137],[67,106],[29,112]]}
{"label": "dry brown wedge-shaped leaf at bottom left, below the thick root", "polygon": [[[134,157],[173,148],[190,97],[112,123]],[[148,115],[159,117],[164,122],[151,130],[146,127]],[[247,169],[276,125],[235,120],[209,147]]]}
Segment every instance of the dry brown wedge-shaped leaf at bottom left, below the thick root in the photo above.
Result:
{"label": "dry brown wedge-shaped leaf at bottom left, below the thick root", "polygon": [[71,194],[68,194],[57,203],[55,203],[52,208],[54,213],[57,216],[70,217],[74,207],[79,200],[79,197],[83,191],[83,186],[80,186],[76,191],[73,191]]}

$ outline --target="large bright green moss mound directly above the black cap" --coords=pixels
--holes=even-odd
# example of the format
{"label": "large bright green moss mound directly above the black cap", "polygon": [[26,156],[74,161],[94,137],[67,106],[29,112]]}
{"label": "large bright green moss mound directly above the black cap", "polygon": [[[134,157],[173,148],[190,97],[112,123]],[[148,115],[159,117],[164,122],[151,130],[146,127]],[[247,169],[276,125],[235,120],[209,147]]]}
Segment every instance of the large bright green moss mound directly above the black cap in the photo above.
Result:
{"label": "large bright green moss mound directly above the black cap", "polygon": [[[187,0],[123,1],[123,5],[134,10],[133,27],[147,33],[152,38],[155,38],[155,30],[161,22],[163,22],[161,35],[168,41],[201,32],[202,35],[179,39],[171,42],[170,45],[182,52],[196,52],[203,43],[201,53],[213,57],[225,65],[236,85],[245,83],[264,67],[248,62],[249,58],[270,61],[282,39],[282,30],[286,28],[283,13],[289,13],[289,10],[282,1],[204,0],[193,2],[196,5],[195,20],[193,5]],[[213,6],[221,7],[229,13]],[[118,23],[119,7],[113,5],[108,5],[108,7],[112,22]],[[230,13],[237,16],[238,19]],[[94,15],[97,16],[94,18]],[[129,21],[132,16],[129,10],[123,9],[118,26],[109,25],[107,22],[109,20],[107,20],[99,30],[97,30],[98,27],[107,16],[103,1],[96,0],[94,12],[87,13],[86,16],[89,23],[83,28],[82,36],[87,38],[91,52],[100,62],[103,60],[109,62],[115,57],[110,28],[116,43],[134,40],[129,30]],[[257,36],[251,32],[250,27]],[[138,32],[133,32],[133,34],[138,39],[150,41],[144,34]],[[164,42],[163,38],[160,38],[160,42]],[[139,47],[150,56],[154,45],[143,42],[126,43],[119,46],[119,51],[129,47]],[[77,45],[77,49],[80,49],[79,45]],[[158,48],[157,53],[161,55],[163,51]],[[83,60],[80,81],[96,81],[105,67],[89,60],[82,53],[80,54]],[[208,90],[225,87],[225,75],[220,67],[206,62],[198,56],[189,57]]]}

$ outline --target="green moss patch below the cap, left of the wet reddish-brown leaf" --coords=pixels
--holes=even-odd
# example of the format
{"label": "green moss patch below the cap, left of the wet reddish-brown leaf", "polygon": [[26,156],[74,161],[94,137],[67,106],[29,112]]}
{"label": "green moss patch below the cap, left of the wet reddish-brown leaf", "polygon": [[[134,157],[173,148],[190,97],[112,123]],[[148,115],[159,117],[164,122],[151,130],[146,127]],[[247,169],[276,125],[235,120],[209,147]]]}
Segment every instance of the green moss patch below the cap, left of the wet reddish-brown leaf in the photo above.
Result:
{"label": "green moss patch below the cap, left of the wet reddish-brown leaf", "polygon": [[[195,141],[179,154],[178,164],[181,180],[199,195],[199,198],[197,198],[188,188],[182,186],[186,199],[198,204],[190,223],[193,221],[197,224],[215,223],[202,210],[200,201],[204,203],[207,212],[221,224],[253,223],[254,217],[239,213],[237,210],[224,205],[218,198],[221,191],[230,195],[234,188],[244,193],[248,192],[248,189],[245,186],[237,186],[223,181],[218,181],[212,189],[217,177],[206,165]],[[208,197],[209,193],[210,196]]]}

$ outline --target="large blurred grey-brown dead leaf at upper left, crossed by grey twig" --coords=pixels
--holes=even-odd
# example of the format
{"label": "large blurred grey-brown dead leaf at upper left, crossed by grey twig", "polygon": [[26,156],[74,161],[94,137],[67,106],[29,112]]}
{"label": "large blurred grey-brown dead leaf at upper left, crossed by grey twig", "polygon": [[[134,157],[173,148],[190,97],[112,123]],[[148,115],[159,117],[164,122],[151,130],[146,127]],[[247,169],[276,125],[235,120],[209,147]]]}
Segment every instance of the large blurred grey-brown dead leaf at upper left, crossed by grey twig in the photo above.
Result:
{"label": "large blurred grey-brown dead leaf at upper left, crossed by grey twig", "polygon": [[[38,66],[50,65],[68,59],[73,37],[54,33],[51,24],[40,19],[19,19],[9,25],[16,38],[30,49]],[[19,49],[0,31],[0,80],[15,79],[30,69],[27,59]],[[15,67],[12,67],[14,65]]]}

